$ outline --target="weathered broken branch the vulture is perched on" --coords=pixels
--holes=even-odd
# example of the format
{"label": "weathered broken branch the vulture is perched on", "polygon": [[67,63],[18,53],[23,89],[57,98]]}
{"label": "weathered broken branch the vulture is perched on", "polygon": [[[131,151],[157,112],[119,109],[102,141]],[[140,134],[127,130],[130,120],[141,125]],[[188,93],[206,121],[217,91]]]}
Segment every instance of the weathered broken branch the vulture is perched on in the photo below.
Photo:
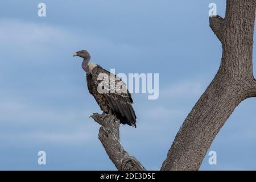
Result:
{"label": "weathered broken branch the vulture is perched on", "polygon": [[113,115],[101,115],[98,113],[94,113],[90,117],[101,125],[98,138],[109,155],[110,160],[112,160],[118,170],[146,170],[134,156],[131,156],[121,146],[119,141],[120,122],[117,118],[115,118]]}

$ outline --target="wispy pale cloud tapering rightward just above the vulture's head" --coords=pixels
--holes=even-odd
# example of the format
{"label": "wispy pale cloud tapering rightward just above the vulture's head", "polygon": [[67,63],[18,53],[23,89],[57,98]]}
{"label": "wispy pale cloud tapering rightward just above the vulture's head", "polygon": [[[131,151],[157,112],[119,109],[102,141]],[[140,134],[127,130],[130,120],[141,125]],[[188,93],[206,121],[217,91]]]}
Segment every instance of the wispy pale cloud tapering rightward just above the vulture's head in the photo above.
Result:
{"label": "wispy pale cloud tapering rightward just above the vulture's head", "polygon": [[[60,51],[65,53],[67,49],[71,52],[71,57],[73,51],[80,49],[89,49],[92,52],[101,50],[101,55],[139,52],[137,48],[125,43],[114,43],[89,30],[84,30],[81,33],[80,31],[71,31],[67,27],[26,22],[19,19],[0,19],[0,42],[0,47],[5,50],[5,55],[19,57],[20,55],[43,56],[42,52],[54,57]],[[0,52],[2,51],[0,50]],[[41,54],[39,54],[40,52]]]}

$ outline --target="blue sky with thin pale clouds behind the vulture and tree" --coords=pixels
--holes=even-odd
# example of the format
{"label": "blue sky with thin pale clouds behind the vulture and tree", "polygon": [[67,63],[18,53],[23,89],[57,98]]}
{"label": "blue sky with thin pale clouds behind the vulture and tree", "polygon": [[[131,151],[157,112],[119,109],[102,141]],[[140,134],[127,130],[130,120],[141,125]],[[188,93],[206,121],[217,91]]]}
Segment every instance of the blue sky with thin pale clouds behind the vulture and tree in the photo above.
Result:
{"label": "blue sky with thin pale clouds behind the vulture and tree", "polygon": [[[46,17],[38,17],[40,2]],[[133,94],[138,127],[121,126],[125,150],[147,169],[159,169],[220,65],[210,2],[2,2],[0,169],[115,170],[98,140],[98,124],[89,119],[100,109],[88,93],[82,60],[72,56],[80,49],[116,73],[159,73],[158,100]],[[223,17],[225,1],[214,3]],[[207,155],[201,170],[256,169],[255,106],[251,98],[237,107],[210,147],[217,165],[209,165]],[[40,150],[45,166],[37,163]]]}

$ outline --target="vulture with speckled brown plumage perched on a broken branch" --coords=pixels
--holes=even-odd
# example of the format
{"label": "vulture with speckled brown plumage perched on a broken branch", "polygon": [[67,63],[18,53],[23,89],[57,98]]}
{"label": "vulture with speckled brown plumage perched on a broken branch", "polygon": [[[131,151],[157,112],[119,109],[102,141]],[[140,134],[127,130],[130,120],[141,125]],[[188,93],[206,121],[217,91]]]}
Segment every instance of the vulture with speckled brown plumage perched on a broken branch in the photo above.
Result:
{"label": "vulture with speckled brown plumage perched on a broken branch", "polygon": [[[103,111],[102,114],[114,115],[123,125],[127,124],[136,127],[137,117],[132,105],[133,99],[126,88],[125,83],[119,77],[106,71],[100,65],[93,63],[89,64],[90,54],[88,51],[78,51],[73,53],[73,56],[79,56],[84,59],[84,61],[82,61],[82,69],[86,72],[88,90]],[[104,78],[99,79],[102,75],[104,75],[104,77],[107,76],[109,79],[103,86],[99,85],[102,84],[101,82],[104,80]],[[119,87],[116,85],[119,85]],[[104,86],[108,88],[106,89],[108,92],[98,92],[98,88],[104,89]]]}

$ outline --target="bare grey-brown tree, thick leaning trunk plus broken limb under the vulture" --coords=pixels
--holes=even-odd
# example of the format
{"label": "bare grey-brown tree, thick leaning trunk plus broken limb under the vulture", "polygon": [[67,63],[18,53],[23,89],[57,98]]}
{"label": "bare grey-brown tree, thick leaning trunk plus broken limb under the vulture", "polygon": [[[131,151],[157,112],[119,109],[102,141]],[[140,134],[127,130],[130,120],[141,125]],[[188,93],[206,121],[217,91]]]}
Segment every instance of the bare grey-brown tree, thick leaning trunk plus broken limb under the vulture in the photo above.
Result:
{"label": "bare grey-brown tree, thick leaning trunk plus broken limb under the vulture", "polygon": [[[216,76],[178,131],[161,170],[198,170],[213,139],[234,109],[256,97],[253,76],[253,32],[256,0],[226,0],[225,18],[211,16],[210,28],[222,45]],[[145,170],[119,142],[119,121],[93,114],[99,139],[118,170]]]}

